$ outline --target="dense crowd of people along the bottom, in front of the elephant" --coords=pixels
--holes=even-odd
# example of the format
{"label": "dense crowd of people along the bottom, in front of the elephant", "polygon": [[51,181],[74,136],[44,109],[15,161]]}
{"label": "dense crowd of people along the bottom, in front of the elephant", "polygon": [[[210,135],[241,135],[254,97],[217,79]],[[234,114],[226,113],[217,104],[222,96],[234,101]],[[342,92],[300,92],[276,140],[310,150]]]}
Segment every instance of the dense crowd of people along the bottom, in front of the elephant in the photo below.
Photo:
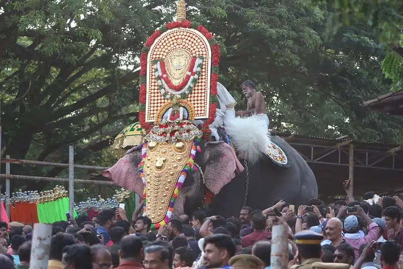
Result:
{"label": "dense crowd of people along the bottom, in front of the elephant", "polygon": [[[244,206],[228,219],[198,210],[158,231],[139,214],[141,204],[130,220],[122,208],[106,209],[92,220],[53,224],[48,269],[270,268],[278,224],[288,231],[291,268],[397,269],[403,265],[403,200],[372,197],[327,205],[312,199],[295,208],[276,199],[264,210]],[[0,223],[2,268],[29,268],[32,234],[31,226]]]}

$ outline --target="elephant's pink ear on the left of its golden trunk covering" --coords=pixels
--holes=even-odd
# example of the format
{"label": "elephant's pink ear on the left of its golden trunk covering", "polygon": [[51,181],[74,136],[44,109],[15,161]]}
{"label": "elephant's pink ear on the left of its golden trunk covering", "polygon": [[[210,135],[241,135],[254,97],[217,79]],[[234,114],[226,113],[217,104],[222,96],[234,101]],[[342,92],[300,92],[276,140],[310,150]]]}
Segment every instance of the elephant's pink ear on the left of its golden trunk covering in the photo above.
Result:
{"label": "elephant's pink ear on the left of its golden trunk covering", "polygon": [[102,171],[101,175],[111,179],[118,186],[134,191],[140,197],[143,195],[143,182],[137,166],[141,162],[141,146],[129,149],[118,162]]}

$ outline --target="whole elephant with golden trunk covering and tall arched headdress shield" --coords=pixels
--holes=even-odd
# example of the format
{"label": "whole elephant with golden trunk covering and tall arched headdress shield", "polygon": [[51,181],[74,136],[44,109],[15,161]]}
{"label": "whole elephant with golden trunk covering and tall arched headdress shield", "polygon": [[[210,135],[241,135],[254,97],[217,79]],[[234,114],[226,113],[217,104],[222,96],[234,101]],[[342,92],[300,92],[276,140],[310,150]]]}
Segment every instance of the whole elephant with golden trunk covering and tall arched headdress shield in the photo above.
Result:
{"label": "whole elephant with golden trunk covering and tall arched headdress shield", "polygon": [[[117,147],[137,141],[136,132],[144,142],[102,175],[142,197],[153,229],[197,209],[205,188],[216,195],[213,211],[223,216],[244,204],[268,206],[276,197],[296,204],[316,197],[315,177],[302,157],[270,138],[260,93],[259,110],[235,117],[236,101],[218,83],[217,41],[186,21],[185,1],[177,4],[177,21],[160,27],[142,49],[140,125],[125,128]],[[250,89],[246,95],[253,95]]]}

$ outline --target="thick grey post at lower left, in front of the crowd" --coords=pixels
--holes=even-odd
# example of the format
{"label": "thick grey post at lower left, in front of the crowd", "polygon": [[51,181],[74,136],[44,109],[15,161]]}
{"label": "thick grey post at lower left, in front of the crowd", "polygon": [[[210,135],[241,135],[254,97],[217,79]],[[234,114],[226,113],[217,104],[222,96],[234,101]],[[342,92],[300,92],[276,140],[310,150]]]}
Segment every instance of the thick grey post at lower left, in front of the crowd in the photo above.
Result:
{"label": "thick grey post at lower left, in front of the crowd", "polygon": [[32,235],[30,269],[47,268],[50,254],[50,242],[52,238],[52,225],[44,223],[34,224]]}

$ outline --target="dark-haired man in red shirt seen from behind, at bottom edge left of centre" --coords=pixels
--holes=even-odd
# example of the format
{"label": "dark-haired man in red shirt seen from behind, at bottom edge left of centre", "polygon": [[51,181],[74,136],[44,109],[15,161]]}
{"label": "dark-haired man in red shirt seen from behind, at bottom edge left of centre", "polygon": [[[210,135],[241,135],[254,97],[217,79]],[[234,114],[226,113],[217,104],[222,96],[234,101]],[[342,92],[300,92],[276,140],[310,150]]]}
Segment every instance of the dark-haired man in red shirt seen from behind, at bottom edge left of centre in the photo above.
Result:
{"label": "dark-haired man in red shirt seen from behind, at bottom edge left of centre", "polygon": [[134,235],[127,235],[121,240],[119,252],[121,262],[118,269],[143,269],[143,242]]}

